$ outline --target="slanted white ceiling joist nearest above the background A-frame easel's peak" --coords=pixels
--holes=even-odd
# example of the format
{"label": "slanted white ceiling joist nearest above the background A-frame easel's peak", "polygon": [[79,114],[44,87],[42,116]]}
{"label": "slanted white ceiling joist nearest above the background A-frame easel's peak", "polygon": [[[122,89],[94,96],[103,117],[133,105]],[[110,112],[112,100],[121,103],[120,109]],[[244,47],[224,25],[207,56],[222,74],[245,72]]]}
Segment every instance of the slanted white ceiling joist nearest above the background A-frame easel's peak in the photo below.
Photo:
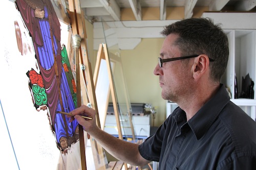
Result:
{"label": "slanted white ceiling joist nearest above the background A-frame easel's peak", "polygon": [[115,0],[99,0],[103,7],[116,21],[120,21],[120,8]]}

